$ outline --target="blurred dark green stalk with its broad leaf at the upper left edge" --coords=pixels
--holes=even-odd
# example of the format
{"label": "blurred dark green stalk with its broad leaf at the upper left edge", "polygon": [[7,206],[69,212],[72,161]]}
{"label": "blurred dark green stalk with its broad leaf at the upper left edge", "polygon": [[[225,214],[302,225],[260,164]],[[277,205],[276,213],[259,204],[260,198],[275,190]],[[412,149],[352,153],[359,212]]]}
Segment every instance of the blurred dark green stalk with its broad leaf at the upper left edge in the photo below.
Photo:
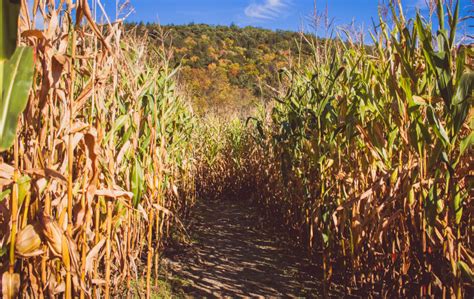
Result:
{"label": "blurred dark green stalk with its broad leaf at the upper left edge", "polygon": [[20,4],[15,2],[0,5],[0,151],[13,144],[33,82],[33,49],[16,46]]}

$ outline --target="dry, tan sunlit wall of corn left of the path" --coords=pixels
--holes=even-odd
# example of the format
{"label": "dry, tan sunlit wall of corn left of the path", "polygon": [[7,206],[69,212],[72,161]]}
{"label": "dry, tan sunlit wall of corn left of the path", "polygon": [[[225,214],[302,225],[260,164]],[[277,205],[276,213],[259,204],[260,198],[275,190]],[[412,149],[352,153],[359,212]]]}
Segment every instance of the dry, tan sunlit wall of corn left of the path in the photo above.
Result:
{"label": "dry, tan sunlit wall of corn left of the path", "polygon": [[194,121],[169,53],[98,25],[87,1],[2,5],[2,75],[18,69],[2,101],[3,297],[109,298],[140,277],[149,296],[194,201]]}

